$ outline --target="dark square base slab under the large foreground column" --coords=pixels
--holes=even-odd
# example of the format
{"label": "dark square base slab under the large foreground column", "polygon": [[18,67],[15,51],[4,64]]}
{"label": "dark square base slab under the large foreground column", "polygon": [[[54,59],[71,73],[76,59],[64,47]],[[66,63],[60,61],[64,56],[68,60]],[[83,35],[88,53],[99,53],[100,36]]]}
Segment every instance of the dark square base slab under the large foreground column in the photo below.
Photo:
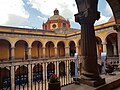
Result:
{"label": "dark square base slab under the large foreground column", "polygon": [[105,84],[105,78],[97,79],[97,80],[88,80],[88,79],[80,79],[80,82],[83,84],[87,84],[92,87],[98,87],[100,85]]}

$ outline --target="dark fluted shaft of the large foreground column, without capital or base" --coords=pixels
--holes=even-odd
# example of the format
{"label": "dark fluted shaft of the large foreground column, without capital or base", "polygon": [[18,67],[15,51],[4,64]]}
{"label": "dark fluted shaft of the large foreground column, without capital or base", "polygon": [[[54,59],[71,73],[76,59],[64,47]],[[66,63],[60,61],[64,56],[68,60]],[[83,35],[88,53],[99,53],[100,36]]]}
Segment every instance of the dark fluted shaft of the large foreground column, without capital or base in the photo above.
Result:
{"label": "dark fluted shaft of the large foreground column, without capital or base", "polygon": [[93,75],[98,78],[97,50],[93,23],[81,24],[81,55],[83,57],[84,76]]}

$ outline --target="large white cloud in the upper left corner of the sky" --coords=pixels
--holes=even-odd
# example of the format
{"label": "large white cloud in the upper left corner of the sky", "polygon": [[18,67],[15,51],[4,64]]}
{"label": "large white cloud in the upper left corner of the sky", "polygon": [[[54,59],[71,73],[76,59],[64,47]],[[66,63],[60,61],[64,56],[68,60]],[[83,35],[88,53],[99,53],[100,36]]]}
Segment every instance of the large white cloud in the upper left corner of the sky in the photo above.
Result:
{"label": "large white cloud in the upper left corner of the sky", "polygon": [[22,0],[0,0],[0,25],[19,25],[29,17]]}

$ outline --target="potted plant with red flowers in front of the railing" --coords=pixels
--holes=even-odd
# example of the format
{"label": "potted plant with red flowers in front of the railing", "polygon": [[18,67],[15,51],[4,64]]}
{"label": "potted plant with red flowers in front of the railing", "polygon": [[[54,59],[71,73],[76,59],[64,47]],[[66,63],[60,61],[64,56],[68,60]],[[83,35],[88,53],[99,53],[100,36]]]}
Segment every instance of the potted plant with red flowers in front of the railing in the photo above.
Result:
{"label": "potted plant with red flowers in front of the railing", "polygon": [[48,90],[61,90],[60,81],[56,74],[50,76],[50,81],[48,83]]}

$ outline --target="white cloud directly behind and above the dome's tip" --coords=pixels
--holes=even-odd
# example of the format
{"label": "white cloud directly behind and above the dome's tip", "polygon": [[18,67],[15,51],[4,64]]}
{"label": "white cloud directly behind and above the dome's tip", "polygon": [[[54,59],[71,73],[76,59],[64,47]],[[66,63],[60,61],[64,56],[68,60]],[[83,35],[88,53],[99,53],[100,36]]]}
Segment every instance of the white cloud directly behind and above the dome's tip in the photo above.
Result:
{"label": "white cloud directly behind and above the dome's tip", "polygon": [[77,6],[74,0],[29,0],[33,8],[39,10],[45,15],[53,15],[53,11],[57,8],[60,15],[70,19],[77,13]]}

